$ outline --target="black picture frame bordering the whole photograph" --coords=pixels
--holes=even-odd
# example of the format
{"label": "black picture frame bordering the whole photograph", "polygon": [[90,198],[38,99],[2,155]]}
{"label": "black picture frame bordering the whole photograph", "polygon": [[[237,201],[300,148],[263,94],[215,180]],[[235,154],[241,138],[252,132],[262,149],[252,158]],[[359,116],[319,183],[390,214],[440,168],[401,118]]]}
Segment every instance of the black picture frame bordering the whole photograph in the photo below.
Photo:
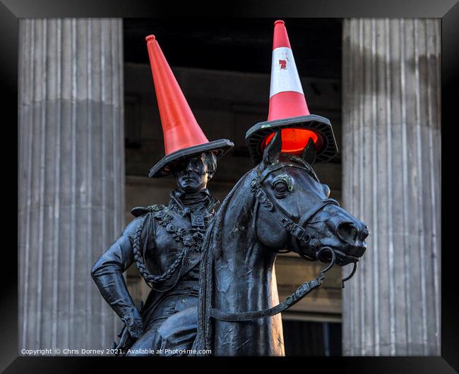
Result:
{"label": "black picture frame bordering the whole photograph", "polygon": [[[223,4],[223,5],[222,5]],[[225,16],[225,17],[314,17],[314,18],[441,18],[441,133],[442,133],[442,171],[451,170],[445,162],[454,159],[448,155],[454,146],[449,144],[455,139],[453,129],[457,128],[458,107],[458,66],[459,66],[459,4],[458,0],[309,0],[309,1],[230,1],[215,2],[215,6],[189,4],[167,4],[158,1],[128,2],[122,0],[2,0],[0,3],[0,82],[1,108],[3,119],[2,140],[4,151],[2,165],[4,175],[3,200],[11,207],[5,209],[6,227],[4,237],[14,238],[4,241],[2,268],[4,277],[1,284],[0,306],[0,369],[5,373],[81,373],[92,371],[96,364],[102,363],[106,370],[116,364],[119,370],[136,370],[133,358],[79,358],[79,357],[18,357],[18,219],[9,217],[6,212],[17,212],[18,207],[18,164],[11,162],[18,144],[18,18],[55,18],[55,17],[171,17],[171,16]],[[457,147],[457,146],[456,146]],[[10,168],[10,169],[8,169]],[[5,169],[5,168],[4,168]],[[454,170],[453,170],[454,171]],[[450,173],[451,174],[451,173]],[[454,174],[454,173],[453,173]],[[457,250],[451,245],[452,225],[455,219],[448,219],[451,196],[442,172],[442,277],[441,277],[441,357],[305,357],[284,358],[281,360],[266,358],[271,370],[339,370],[340,373],[454,373],[459,370],[459,318],[458,318],[458,277],[453,256]],[[9,178],[8,178],[9,177]],[[16,189],[15,189],[16,188]],[[13,190],[13,191],[11,191]],[[15,193],[16,191],[16,193]],[[16,200],[12,198],[16,196]],[[454,196],[454,195],[453,195]],[[11,227],[10,227],[11,226]],[[16,244],[16,246],[15,246]],[[5,270],[11,270],[5,275]],[[255,358],[254,358],[255,360]],[[285,361],[287,360],[287,362]],[[187,359],[187,363],[193,362]],[[215,360],[217,364],[221,360]],[[225,360],[225,366],[227,362]],[[232,359],[234,363],[246,364],[248,359]],[[254,363],[260,364],[257,359]],[[290,366],[295,362],[294,366]],[[184,363],[183,359],[174,363]],[[143,362],[144,364],[147,362]],[[148,361],[152,370],[159,361]],[[196,361],[194,361],[196,363]],[[169,360],[167,366],[172,364]],[[198,365],[203,365],[198,361]]]}

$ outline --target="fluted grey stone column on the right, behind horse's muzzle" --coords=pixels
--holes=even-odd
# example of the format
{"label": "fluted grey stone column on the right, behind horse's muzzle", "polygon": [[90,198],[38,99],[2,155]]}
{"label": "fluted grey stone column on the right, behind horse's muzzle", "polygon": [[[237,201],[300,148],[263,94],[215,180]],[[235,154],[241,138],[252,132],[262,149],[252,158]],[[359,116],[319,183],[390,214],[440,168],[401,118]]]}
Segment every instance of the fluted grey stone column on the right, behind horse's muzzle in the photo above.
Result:
{"label": "fluted grey stone column on the right, behind horse's muzzle", "polygon": [[344,21],[343,200],[371,232],[347,356],[440,355],[440,51],[438,19]]}

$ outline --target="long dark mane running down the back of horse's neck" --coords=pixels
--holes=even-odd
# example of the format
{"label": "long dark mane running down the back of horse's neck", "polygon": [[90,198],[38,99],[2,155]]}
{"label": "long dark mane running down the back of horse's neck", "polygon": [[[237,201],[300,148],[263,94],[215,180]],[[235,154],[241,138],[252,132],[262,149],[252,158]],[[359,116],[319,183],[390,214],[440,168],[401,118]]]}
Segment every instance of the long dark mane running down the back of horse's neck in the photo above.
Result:
{"label": "long dark mane running down the back of horse's neck", "polygon": [[242,176],[239,181],[229,191],[225,200],[223,200],[220,208],[215,213],[213,221],[210,223],[208,230],[205,234],[202,246],[202,258],[200,266],[200,280],[199,280],[199,301],[198,301],[198,331],[196,342],[194,344],[196,349],[208,350],[212,349],[211,334],[212,325],[210,323],[210,308],[212,308],[213,296],[213,261],[221,255],[221,240],[222,240],[222,226],[225,220],[225,215],[228,210],[229,203],[231,202],[234,194],[239,187],[246,181],[251,171],[249,170]]}

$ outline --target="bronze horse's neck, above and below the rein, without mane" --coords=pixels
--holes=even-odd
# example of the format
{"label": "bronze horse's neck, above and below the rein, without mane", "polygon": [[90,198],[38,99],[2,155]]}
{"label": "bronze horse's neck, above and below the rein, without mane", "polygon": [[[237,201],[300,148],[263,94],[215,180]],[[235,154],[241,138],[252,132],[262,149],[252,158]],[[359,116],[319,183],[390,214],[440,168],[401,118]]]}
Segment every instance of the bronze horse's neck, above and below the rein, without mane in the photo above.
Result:
{"label": "bronze horse's neck, above and below the rein, without mane", "polygon": [[[254,233],[255,198],[250,191],[253,178],[254,171],[249,172],[234,186],[213,222],[211,231],[215,235],[207,237],[216,239],[210,244],[216,251],[210,252],[213,277],[208,279],[213,280],[208,291],[212,294],[206,300],[211,300],[214,308],[229,313],[262,310],[279,302],[275,252],[261,246]],[[203,326],[206,321],[201,321]],[[250,322],[214,320],[210,339],[210,347],[217,356],[284,354],[280,315]]]}

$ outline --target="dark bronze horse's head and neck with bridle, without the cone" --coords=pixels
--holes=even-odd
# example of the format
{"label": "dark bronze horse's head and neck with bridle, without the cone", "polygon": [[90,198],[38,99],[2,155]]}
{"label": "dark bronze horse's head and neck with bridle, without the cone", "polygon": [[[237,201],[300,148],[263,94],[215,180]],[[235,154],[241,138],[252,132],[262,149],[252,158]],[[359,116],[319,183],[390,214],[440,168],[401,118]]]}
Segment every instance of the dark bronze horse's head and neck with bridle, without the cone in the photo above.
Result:
{"label": "dark bronze horse's head and neck with bridle, without the cone", "polygon": [[[320,286],[334,264],[354,263],[353,274],[366,250],[367,227],[328,197],[311,167],[312,140],[295,156],[281,152],[280,137],[232,188],[205,235],[193,345],[201,352],[285,355],[279,313]],[[286,251],[329,265],[279,303],[274,262]]]}

